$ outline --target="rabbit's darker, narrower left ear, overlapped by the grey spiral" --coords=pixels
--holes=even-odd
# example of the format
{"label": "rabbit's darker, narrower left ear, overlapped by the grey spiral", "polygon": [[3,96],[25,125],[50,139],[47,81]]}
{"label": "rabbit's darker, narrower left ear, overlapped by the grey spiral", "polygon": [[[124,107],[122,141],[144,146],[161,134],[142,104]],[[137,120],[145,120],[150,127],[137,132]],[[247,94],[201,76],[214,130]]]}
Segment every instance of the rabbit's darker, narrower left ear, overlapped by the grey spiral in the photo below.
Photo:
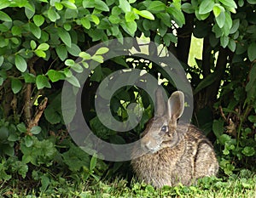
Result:
{"label": "rabbit's darker, narrower left ear, overlapped by the grey spiral", "polygon": [[164,116],[166,113],[166,101],[163,97],[162,90],[160,88],[156,89],[155,92],[155,110],[154,116]]}

